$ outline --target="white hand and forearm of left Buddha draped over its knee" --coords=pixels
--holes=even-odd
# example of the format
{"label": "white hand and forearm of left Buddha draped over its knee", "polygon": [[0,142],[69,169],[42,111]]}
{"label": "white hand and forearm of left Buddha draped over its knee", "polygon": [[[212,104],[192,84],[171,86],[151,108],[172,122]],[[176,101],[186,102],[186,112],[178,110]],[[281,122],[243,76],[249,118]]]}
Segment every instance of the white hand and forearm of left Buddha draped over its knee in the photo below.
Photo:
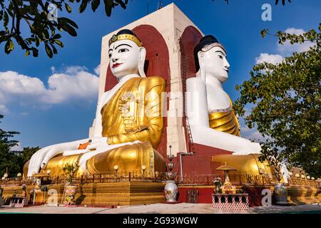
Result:
{"label": "white hand and forearm of left Buddha draped over its knee", "polygon": [[41,148],[30,159],[28,176],[30,177],[33,173],[39,172],[40,168],[45,169],[52,157],[63,153],[65,150],[76,150],[78,145],[84,142],[88,142],[88,139],[64,142]]}

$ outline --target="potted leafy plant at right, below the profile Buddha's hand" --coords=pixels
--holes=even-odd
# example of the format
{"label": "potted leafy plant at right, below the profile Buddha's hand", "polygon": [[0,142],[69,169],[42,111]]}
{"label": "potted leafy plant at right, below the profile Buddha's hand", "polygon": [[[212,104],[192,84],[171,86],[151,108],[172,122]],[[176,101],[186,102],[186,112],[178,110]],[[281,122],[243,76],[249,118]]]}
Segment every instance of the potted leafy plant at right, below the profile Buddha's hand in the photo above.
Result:
{"label": "potted leafy plant at right, below the profile Buddha's hand", "polygon": [[277,152],[277,148],[270,148],[268,145],[262,146],[262,154],[259,157],[260,162],[267,160],[270,166],[274,169],[274,174],[277,179],[277,184],[274,186],[274,197],[276,204],[288,204],[287,202],[287,187],[284,182],[281,182],[284,173],[282,173],[282,156]]}

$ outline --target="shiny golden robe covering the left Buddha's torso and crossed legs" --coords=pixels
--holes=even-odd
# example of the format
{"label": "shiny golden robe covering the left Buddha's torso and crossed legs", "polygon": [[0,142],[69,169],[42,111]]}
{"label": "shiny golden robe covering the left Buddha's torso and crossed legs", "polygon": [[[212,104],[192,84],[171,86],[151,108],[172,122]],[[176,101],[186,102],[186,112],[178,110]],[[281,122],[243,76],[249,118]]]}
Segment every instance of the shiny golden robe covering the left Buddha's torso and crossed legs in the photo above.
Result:
{"label": "shiny golden robe covering the left Buddha's torso and crossed legs", "polygon": [[[165,171],[165,160],[156,151],[163,134],[162,92],[165,80],[158,76],[131,78],[116,91],[101,109],[102,135],[108,138],[109,145],[141,142],[91,157],[86,162],[88,174],[113,172],[115,165],[118,172],[141,172],[142,166],[146,167],[146,175]],[[82,155],[58,155],[49,160],[46,170],[51,170],[52,176],[63,175],[63,166],[74,164]],[[82,174],[84,170],[79,170],[78,175]]]}

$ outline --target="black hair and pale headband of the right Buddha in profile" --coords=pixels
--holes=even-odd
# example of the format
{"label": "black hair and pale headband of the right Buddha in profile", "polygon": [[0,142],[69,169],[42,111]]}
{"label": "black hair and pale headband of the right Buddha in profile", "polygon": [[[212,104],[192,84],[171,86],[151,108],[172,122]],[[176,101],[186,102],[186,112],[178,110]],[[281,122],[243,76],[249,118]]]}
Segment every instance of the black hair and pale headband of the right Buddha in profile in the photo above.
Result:
{"label": "black hair and pale headband of the right Buddha in profile", "polygon": [[206,52],[216,46],[223,48],[223,50],[226,52],[225,47],[220,42],[218,42],[218,39],[215,38],[215,36],[207,35],[200,39],[200,43],[198,43],[198,45],[196,45],[194,48],[194,60],[195,60],[196,72],[198,72],[198,70],[200,69],[200,63],[198,61],[198,52],[200,51]]}

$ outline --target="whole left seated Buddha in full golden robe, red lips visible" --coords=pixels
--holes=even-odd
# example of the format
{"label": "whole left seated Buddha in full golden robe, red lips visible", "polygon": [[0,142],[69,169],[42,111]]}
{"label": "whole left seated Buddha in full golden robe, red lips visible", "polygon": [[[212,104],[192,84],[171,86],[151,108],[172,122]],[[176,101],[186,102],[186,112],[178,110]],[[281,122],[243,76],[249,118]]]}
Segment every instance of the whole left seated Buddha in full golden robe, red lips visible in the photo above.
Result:
{"label": "whole left seated Buddha in full golden robe, red lips visible", "polygon": [[63,175],[66,164],[78,162],[78,175],[113,172],[165,171],[165,160],[156,150],[163,133],[161,93],[165,80],[146,78],[146,48],[131,30],[124,29],[109,41],[109,64],[118,83],[103,93],[96,110],[93,138],[49,145],[24,165],[24,177],[51,171]]}

